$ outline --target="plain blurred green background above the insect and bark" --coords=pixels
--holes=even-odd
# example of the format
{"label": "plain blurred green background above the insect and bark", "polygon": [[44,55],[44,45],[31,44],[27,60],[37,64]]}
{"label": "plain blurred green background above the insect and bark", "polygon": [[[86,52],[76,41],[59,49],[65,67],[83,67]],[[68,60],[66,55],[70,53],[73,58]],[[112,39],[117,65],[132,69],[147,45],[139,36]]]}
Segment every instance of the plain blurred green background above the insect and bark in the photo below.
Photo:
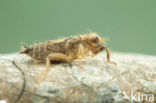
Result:
{"label": "plain blurred green background above the insect and bark", "polygon": [[113,51],[156,55],[156,0],[0,0],[0,54],[88,32]]}

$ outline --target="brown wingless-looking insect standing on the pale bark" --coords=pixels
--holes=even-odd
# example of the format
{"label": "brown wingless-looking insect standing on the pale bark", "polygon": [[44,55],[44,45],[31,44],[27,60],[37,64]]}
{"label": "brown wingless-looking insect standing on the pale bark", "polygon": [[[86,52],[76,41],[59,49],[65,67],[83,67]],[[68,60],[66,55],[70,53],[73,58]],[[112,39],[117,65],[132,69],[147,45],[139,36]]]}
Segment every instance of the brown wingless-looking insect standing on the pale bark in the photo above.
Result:
{"label": "brown wingless-looking insect standing on the pale bark", "polygon": [[50,69],[50,61],[66,61],[70,62],[75,59],[82,59],[87,56],[94,57],[103,50],[107,53],[107,62],[115,64],[110,61],[110,51],[103,45],[104,39],[97,33],[89,33],[70,38],[59,40],[51,40],[45,43],[40,43],[33,46],[25,46],[20,53],[27,54],[33,59],[46,62],[46,70],[39,82],[43,81]]}

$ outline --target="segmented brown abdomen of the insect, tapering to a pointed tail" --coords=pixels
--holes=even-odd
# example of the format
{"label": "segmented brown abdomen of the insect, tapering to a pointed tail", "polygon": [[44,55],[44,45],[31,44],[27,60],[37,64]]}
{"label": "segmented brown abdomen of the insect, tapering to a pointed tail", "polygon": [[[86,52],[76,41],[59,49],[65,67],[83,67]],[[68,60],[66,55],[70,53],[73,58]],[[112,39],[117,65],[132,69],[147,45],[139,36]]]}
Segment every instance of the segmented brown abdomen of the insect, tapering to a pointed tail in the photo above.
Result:
{"label": "segmented brown abdomen of the insect, tapering to a pointed tail", "polygon": [[24,46],[25,48],[21,53],[25,53],[33,59],[45,61],[49,54],[65,54],[65,45],[66,42],[64,40],[48,41],[30,47]]}

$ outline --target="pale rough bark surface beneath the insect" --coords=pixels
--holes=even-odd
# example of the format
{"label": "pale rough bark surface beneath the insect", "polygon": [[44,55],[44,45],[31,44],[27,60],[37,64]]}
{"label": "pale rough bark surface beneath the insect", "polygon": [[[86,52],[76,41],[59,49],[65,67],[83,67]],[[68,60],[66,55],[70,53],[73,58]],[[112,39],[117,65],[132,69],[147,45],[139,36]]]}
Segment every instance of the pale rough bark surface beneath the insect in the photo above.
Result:
{"label": "pale rough bark surface beneath the insect", "polygon": [[[0,55],[0,101],[7,103],[129,103],[156,102],[156,56],[112,53],[67,63],[51,64],[45,71],[41,63],[26,55]],[[135,98],[131,98],[131,95]],[[124,98],[125,94],[129,97]],[[144,96],[143,100],[141,95]],[[139,97],[140,96],[140,97]],[[155,98],[154,98],[154,97]],[[148,101],[147,101],[148,100]]]}

